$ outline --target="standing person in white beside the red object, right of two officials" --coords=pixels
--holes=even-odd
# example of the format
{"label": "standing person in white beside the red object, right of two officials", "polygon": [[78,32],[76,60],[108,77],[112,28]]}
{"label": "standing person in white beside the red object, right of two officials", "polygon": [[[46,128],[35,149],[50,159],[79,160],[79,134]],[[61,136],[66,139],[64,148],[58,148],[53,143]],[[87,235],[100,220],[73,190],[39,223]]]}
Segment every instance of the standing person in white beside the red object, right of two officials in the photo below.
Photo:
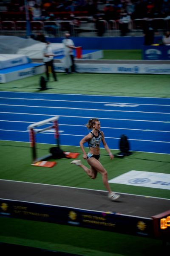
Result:
{"label": "standing person in white beside the red object, right of two officials", "polygon": [[64,58],[62,59],[63,66],[65,68],[66,74],[69,74],[69,69],[71,68],[71,73],[75,73],[75,64],[74,64],[74,42],[69,38],[70,34],[66,33],[65,38],[62,40],[64,44]]}

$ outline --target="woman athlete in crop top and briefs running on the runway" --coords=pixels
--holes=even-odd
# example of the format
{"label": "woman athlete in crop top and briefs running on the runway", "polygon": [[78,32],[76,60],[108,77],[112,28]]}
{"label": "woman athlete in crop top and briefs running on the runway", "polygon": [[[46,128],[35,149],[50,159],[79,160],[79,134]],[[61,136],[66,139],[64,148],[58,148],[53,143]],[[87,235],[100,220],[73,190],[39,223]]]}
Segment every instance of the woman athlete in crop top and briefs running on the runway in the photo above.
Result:
{"label": "woman athlete in crop top and briefs running on the runway", "polygon": [[[100,158],[100,143],[102,142],[105,150],[108,152],[110,159],[113,159],[113,154],[108,148],[108,145],[105,141],[105,136],[102,131],[100,131],[100,121],[99,119],[90,119],[88,121],[88,124],[86,125],[88,129],[92,129],[92,131],[86,135],[81,141],[80,141],[80,147],[83,152],[83,158],[87,160],[88,164],[91,166],[91,169],[87,168],[81,163],[81,160],[74,160],[71,163],[76,164],[77,166],[80,166],[91,179],[95,179],[97,176],[97,173],[99,172],[102,175],[103,184],[105,185],[106,189],[108,190],[108,198],[110,198],[112,201],[117,200],[120,195],[115,194],[114,192],[111,192],[111,188],[108,183],[108,173],[105,170],[105,168],[102,166],[102,164],[99,162]],[[89,152],[86,154],[84,144],[88,143],[89,146]]]}

